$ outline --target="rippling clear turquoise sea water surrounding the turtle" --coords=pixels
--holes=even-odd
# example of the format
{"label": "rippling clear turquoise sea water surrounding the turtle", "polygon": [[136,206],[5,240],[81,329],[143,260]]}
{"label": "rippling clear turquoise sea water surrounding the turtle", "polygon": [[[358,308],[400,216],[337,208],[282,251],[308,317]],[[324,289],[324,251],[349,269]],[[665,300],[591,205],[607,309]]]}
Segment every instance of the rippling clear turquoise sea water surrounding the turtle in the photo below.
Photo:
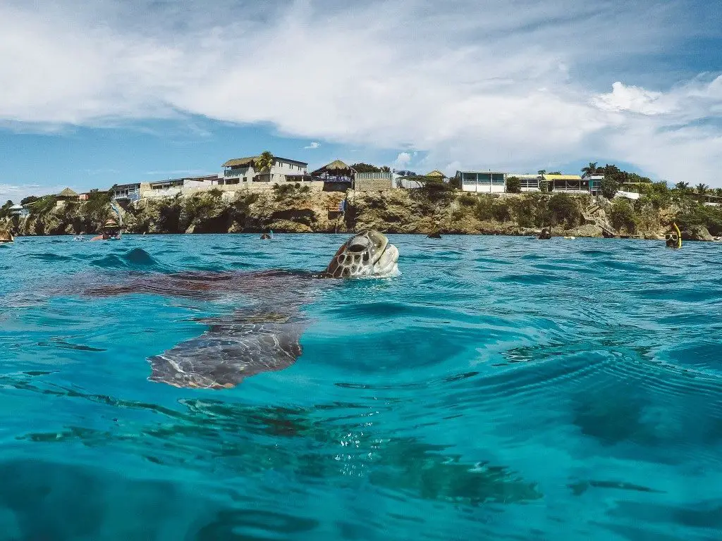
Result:
{"label": "rippling clear turquoise sea water surrounding the turtle", "polygon": [[400,276],[310,289],[295,364],[229,390],[147,359],[236,291],[86,294],[347,237],[0,245],[0,540],[722,538],[722,244],[389,235]]}

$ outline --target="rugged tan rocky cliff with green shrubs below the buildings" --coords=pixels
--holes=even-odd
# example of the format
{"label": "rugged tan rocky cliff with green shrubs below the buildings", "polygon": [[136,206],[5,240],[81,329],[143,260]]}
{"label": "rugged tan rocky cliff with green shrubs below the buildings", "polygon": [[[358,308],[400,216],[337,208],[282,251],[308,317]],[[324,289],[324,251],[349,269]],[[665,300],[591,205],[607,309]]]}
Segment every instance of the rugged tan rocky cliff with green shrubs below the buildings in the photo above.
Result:
{"label": "rugged tan rocky cliff with green shrubs below the buildings", "polygon": [[[346,211],[339,203],[346,200]],[[91,234],[112,216],[108,201],[53,203],[14,224],[18,234]],[[129,233],[350,232],[521,234],[551,226],[555,235],[661,238],[679,214],[647,203],[589,195],[476,195],[444,187],[384,192],[321,192],[279,186],[264,193],[211,191],[143,199],[123,206]],[[1,225],[1,224],[0,224]],[[683,238],[712,239],[703,225]]]}

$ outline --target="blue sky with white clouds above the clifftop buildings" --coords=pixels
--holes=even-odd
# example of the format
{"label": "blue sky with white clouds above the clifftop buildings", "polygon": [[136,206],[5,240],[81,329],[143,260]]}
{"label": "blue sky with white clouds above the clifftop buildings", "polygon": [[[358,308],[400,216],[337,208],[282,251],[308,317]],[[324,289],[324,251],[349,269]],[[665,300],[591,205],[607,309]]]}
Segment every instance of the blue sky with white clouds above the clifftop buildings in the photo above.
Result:
{"label": "blue sky with white clouds above the clifftop buildings", "polygon": [[6,0],[0,201],[266,149],[722,186],[720,20],[721,1]]}

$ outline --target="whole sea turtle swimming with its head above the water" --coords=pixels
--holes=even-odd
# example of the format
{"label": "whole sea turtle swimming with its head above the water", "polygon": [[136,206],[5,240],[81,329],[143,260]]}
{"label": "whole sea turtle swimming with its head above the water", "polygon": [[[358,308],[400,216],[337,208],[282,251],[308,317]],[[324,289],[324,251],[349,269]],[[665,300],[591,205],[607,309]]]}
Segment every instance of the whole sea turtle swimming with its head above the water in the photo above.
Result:
{"label": "whole sea turtle swimming with its head above the water", "polygon": [[222,389],[295,362],[301,354],[300,337],[309,324],[301,307],[318,291],[337,283],[322,278],[395,276],[399,273],[398,260],[399,250],[386,236],[367,231],[344,242],[320,273],[159,273],[123,284],[97,286],[85,294],[149,293],[199,299],[238,294],[253,299],[253,306],[235,309],[226,317],[196,320],[209,325],[205,333],[148,359],[153,382]]}

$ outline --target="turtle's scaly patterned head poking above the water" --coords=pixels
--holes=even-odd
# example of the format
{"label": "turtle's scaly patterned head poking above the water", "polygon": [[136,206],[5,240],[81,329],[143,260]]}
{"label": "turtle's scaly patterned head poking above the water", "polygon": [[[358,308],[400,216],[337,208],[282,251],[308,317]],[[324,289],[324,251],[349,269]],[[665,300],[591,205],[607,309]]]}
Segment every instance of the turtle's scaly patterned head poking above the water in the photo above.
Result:
{"label": "turtle's scaly patterned head poking above the water", "polygon": [[399,250],[378,231],[355,234],[339,248],[326,267],[333,278],[370,276],[382,278],[399,273]]}

